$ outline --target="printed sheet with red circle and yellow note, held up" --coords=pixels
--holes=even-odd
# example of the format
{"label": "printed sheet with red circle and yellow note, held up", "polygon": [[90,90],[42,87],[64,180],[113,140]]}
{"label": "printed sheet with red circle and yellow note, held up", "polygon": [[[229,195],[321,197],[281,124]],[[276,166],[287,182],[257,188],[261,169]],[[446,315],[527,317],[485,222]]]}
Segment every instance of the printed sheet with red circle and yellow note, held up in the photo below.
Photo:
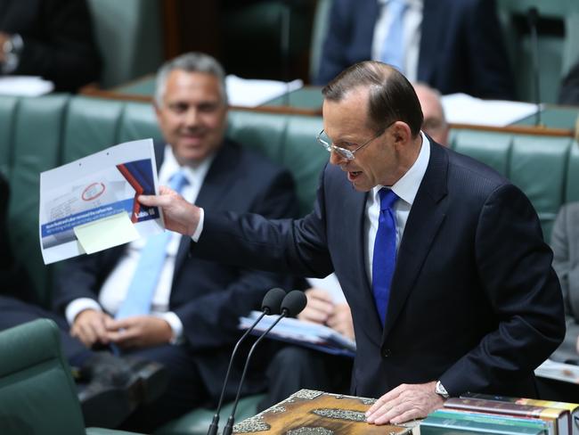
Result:
{"label": "printed sheet with red circle and yellow note, held up", "polygon": [[152,139],[126,142],[40,174],[39,236],[45,264],[164,230]]}

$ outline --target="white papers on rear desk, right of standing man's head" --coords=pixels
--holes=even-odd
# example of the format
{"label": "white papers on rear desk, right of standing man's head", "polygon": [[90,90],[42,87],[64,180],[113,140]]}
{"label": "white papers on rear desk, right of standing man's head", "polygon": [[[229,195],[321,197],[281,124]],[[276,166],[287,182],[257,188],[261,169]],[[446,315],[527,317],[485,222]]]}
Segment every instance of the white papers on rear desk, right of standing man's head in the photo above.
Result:
{"label": "white papers on rear desk, right of standing man's head", "polygon": [[506,127],[537,112],[534,103],[481,100],[468,94],[444,95],[442,104],[450,124]]}

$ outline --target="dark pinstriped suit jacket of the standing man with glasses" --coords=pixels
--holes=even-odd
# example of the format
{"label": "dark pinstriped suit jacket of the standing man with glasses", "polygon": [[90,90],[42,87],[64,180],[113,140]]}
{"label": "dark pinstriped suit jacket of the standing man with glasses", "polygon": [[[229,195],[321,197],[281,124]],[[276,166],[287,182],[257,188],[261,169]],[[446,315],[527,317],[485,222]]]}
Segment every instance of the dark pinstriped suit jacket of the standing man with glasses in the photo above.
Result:
{"label": "dark pinstriped suit jacket of the standing man with glasses", "polygon": [[[193,255],[323,276],[334,268],[354,318],[352,392],[440,380],[451,395],[534,397],[533,369],[564,334],[559,282],[536,213],[491,168],[431,144],[404,229],[384,331],[366,275],[364,204],[337,166],[297,221],[206,211]],[[227,246],[224,252],[221,248]],[[264,256],[263,252],[268,255]]]}

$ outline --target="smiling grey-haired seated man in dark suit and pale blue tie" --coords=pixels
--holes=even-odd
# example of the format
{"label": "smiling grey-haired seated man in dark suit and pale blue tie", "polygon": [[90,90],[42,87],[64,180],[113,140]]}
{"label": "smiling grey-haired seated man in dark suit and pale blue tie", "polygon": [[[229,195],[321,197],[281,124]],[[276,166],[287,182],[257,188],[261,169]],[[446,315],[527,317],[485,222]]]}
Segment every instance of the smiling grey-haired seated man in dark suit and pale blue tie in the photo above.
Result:
{"label": "smiling grey-haired seated man in dark suit and pale blue tie", "polygon": [[[227,95],[224,71],[215,59],[187,53],[167,62],[159,70],[155,110],[167,141],[156,146],[160,183],[180,172],[186,180],[183,195],[207,209],[296,215],[290,174],[224,138]],[[55,307],[86,346],[114,344],[123,353],[167,367],[167,393],[124,425],[138,431],[215,404],[232,345],[240,337],[239,317],[258,308],[270,288],[289,285],[281,275],[192,259],[189,238],[175,234],[167,244],[151,313],[116,318],[145,242],[66,262],[54,291]],[[260,359],[266,358],[254,361]],[[237,363],[225,399],[237,389],[243,361]],[[265,378],[257,373],[246,380],[243,394],[265,388]]]}

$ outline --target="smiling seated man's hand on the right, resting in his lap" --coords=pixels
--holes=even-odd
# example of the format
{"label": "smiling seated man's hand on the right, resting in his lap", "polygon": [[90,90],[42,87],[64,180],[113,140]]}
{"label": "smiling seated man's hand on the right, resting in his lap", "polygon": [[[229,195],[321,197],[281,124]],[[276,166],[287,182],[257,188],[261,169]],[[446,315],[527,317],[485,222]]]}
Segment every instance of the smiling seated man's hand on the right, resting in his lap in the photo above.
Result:
{"label": "smiling seated man's hand on the right, resting in his lap", "polygon": [[168,343],[173,330],[167,321],[155,316],[131,316],[106,324],[109,340],[121,348],[144,348]]}

